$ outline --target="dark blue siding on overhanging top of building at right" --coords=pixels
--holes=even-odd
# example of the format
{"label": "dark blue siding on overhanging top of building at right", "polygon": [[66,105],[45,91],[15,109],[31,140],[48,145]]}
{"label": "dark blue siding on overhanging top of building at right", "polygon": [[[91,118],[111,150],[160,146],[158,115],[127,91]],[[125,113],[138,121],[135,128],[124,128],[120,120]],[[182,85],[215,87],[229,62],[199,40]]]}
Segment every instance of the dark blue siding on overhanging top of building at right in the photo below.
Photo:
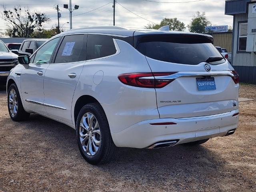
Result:
{"label": "dark blue siding on overhanging top of building at right", "polygon": [[250,0],[227,0],[225,2],[225,14],[234,15],[246,13],[248,2],[250,2]]}

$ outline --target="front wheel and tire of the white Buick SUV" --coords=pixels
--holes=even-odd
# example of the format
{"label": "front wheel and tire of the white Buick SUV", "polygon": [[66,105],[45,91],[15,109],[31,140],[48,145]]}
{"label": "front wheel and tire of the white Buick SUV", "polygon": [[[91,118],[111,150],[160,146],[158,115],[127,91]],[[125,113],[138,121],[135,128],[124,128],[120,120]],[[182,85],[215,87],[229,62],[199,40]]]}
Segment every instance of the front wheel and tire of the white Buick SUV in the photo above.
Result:
{"label": "front wheel and tire of the white Buick SUV", "polygon": [[[26,112],[23,108],[22,101],[20,99],[19,90],[15,83],[11,84],[8,88],[8,112],[12,120],[22,121],[27,120],[30,113]],[[11,101],[13,100],[13,102]],[[13,110],[12,110],[13,106]]]}

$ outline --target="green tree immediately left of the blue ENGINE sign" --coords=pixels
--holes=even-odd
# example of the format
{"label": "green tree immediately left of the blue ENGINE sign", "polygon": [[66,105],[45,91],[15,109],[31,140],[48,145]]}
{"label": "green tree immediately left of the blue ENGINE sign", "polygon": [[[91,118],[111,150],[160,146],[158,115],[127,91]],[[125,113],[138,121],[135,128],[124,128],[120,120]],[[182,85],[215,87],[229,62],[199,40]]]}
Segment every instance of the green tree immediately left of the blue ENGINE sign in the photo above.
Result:
{"label": "green tree immediately left of the blue ENGINE sign", "polygon": [[199,11],[194,14],[190,24],[188,24],[188,29],[190,32],[194,33],[205,33],[205,27],[211,26],[211,22],[206,18],[205,12],[200,13]]}

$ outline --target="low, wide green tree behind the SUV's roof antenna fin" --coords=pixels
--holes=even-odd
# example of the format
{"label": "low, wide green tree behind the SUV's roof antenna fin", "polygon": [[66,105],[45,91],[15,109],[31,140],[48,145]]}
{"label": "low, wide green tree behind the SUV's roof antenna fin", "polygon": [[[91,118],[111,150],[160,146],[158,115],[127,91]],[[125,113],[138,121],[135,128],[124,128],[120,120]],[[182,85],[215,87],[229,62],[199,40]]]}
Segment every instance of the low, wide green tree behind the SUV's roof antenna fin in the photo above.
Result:
{"label": "low, wide green tree behind the SUV's roof antenna fin", "polygon": [[148,24],[145,26],[146,29],[159,29],[162,26],[169,25],[169,30],[173,31],[184,31],[186,26],[183,22],[180,22],[177,18],[164,18],[160,24]]}

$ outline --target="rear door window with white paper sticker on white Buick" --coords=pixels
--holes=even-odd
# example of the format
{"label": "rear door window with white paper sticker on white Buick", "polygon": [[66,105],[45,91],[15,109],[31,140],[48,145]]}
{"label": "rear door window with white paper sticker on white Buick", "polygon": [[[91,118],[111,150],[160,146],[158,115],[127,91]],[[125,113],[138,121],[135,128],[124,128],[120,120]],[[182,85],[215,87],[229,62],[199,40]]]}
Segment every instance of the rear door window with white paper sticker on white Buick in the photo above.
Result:
{"label": "rear door window with white paper sticker on white Buick", "polygon": [[57,52],[54,63],[70,63],[86,60],[87,35],[65,36]]}

